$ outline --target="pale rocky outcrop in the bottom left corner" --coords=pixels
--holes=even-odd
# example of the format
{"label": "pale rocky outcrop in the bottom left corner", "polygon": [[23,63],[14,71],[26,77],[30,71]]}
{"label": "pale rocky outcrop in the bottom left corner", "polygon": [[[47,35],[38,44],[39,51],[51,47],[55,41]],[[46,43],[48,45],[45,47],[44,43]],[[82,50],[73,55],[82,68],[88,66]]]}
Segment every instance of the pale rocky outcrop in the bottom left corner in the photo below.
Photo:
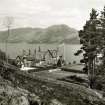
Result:
{"label": "pale rocky outcrop in the bottom left corner", "polygon": [[16,88],[10,81],[0,78],[0,105],[31,105],[38,100],[35,94]]}

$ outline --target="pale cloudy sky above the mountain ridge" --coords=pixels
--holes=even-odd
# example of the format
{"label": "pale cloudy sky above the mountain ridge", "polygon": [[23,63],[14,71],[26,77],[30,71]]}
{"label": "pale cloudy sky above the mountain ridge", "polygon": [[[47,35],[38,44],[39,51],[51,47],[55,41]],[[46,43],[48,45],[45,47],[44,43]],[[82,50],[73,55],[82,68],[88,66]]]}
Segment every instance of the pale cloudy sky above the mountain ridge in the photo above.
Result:
{"label": "pale cloudy sky above the mountain ridge", "polygon": [[12,28],[67,24],[80,30],[91,9],[100,12],[104,5],[105,0],[0,0],[0,30],[6,17],[12,17]]}

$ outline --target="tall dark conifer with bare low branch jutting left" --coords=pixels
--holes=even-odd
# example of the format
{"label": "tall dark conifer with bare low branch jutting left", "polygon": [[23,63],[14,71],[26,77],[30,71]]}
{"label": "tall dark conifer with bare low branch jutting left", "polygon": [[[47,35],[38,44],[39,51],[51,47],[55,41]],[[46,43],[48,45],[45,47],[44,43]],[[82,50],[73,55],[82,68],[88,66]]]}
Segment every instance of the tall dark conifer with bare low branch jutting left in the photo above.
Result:
{"label": "tall dark conifer with bare low branch jutting left", "polygon": [[83,59],[80,60],[81,63],[85,64],[84,70],[87,70],[88,77],[90,81],[90,87],[92,88],[94,82],[95,75],[95,58],[97,56],[97,48],[98,48],[98,36],[99,33],[97,31],[98,13],[95,9],[92,9],[90,13],[90,19],[86,21],[86,24],[83,27],[83,30],[79,31],[80,44],[82,47],[80,50],[75,53],[78,55],[83,53]]}

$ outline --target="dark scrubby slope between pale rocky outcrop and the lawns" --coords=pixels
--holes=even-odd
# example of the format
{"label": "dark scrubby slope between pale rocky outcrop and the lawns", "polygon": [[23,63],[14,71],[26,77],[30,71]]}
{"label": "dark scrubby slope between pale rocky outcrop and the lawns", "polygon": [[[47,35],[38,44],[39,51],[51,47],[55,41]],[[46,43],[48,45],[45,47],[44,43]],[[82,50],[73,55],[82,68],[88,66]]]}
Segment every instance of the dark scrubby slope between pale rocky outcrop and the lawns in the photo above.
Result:
{"label": "dark scrubby slope between pale rocky outcrop and the lawns", "polygon": [[46,79],[23,71],[11,71],[10,75],[11,79],[8,80],[38,96],[44,105],[105,105],[93,90],[81,85]]}

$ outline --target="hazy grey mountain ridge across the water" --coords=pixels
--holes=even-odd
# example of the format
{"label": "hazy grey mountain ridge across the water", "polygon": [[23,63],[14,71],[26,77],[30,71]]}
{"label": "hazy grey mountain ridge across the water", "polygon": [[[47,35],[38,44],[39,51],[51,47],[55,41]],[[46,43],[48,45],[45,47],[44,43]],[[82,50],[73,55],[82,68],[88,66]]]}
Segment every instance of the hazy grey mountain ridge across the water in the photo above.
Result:
{"label": "hazy grey mountain ridge across the water", "polygon": [[9,43],[69,43],[79,44],[78,31],[67,25],[52,25],[47,28],[17,28],[7,31],[0,31],[0,42]]}

